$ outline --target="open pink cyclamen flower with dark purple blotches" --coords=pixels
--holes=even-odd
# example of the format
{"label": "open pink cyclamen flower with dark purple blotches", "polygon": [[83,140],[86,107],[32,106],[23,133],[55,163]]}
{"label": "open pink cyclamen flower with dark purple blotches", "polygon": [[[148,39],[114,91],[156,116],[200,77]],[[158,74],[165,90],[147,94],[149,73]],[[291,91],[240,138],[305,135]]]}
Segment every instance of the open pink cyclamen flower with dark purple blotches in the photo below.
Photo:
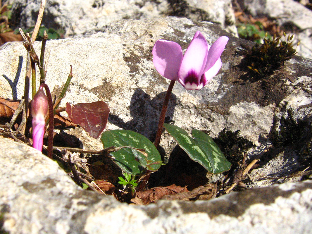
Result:
{"label": "open pink cyclamen flower with dark purple blotches", "polygon": [[178,43],[158,40],[153,48],[153,63],[160,75],[178,80],[185,89],[201,89],[220,70],[220,56],[228,40],[222,36],[210,46],[197,31],[184,56]]}

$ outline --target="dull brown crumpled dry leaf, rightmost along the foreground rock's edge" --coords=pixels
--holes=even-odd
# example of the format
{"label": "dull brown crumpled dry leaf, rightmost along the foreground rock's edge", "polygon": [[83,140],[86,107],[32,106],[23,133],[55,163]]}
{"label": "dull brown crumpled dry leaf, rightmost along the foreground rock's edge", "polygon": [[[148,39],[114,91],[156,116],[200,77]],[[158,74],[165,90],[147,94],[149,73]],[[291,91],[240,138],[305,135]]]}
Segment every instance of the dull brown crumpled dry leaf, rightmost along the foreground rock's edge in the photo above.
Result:
{"label": "dull brown crumpled dry leaf, rightmost along the foreground rock's edge", "polygon": [[195,200],[209,200],[217,192],[217,184],[206,184],[204,186],[199,186],[194,188],[192,191],[177,193],[173,195],[166,195],[161,199],[165,200],[181,200],[181,201],[195,201]]}

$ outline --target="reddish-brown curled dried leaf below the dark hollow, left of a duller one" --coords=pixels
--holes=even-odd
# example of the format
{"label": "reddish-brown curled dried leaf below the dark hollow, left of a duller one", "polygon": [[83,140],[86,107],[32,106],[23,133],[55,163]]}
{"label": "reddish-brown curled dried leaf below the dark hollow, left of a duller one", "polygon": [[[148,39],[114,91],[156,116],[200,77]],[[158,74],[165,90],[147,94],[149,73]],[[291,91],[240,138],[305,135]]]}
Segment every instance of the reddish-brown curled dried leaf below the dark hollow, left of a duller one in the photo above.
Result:
{"label": "reddish-brown curled dried leaf below the dark hollow, left of a duller one", "polygon": [[[175,184],[166,186],[166,187],[154,187],[150,188],[146,191],[137,192],[136,195],[138,198],[142,200],[144,205],[147,205],[151,202],[156,202],[160,198],[166,195],[173,195],[176,193],[187,192],[188,189],[186,187],[177,186]],[[131,199],[132,202],[138,204],[138,201],[135,199]]]}

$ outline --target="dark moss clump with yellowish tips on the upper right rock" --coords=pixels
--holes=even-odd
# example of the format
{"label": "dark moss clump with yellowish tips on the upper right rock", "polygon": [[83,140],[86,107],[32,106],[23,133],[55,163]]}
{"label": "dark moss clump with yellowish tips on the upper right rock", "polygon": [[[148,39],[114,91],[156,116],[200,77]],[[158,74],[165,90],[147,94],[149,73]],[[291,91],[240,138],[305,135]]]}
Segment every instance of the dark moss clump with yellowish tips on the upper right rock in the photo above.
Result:
{"label": "dark moss clump with yellowish tips on the upper right rock", "polygon": [[[256,44],[251,49],[251,53],[246,56],[248,69],[257,76],[269,76],[273,71],[284,65],[284,61],[290,60],[296,52],[293,47],[293,36],[288,36],[284,32],[284,41],[280,41],[281,37],[264,38],[262,44]],[[299,45],[299,44],[297,44]]]}

